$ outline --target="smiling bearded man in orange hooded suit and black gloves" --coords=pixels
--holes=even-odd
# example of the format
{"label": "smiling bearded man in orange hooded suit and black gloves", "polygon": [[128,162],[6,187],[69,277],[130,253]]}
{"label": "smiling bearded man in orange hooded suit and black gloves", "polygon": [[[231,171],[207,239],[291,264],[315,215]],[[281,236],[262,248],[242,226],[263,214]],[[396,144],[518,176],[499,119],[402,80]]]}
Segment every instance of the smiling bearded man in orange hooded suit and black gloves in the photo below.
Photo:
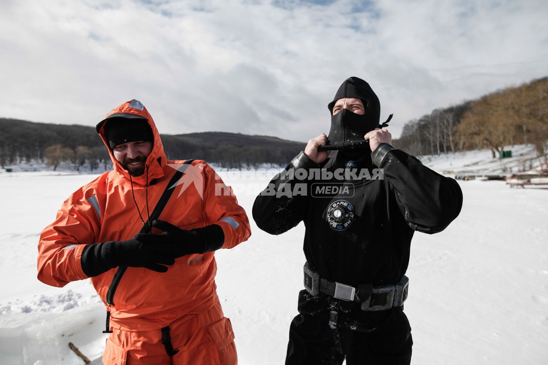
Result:
{"label": "smiling bearded man in orange hooded suit and black gloves", "polygon": [[167,160],[139,101],[96,130],[114,168],[73,193],[42,231],[38,279],[62,287],[91,278],[107,307],[105,364],[236,364],[214,252],[249,238],[246,212],[204,161]]}

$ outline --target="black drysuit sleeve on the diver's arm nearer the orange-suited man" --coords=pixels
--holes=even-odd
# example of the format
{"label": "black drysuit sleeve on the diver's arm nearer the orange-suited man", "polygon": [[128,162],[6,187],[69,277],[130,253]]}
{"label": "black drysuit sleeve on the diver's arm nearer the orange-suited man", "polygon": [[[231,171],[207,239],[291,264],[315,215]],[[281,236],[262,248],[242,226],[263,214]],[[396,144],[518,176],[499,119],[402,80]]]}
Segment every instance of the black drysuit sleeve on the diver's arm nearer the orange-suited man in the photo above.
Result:
{"label": "black drysuit sleeve on the diver's arm nearer the orange-suited man", "polygon": [[302,221],[306,209],[306,196],[287,196],[286,193],[293,192],[295,184],[299,182],[298,179],[291,178],[297,169],[312,168],[319,169],[319,165],[301,151],[270,181],[253,204],[253,219],[257,227],[267,233],[278,235],[296,227]]}

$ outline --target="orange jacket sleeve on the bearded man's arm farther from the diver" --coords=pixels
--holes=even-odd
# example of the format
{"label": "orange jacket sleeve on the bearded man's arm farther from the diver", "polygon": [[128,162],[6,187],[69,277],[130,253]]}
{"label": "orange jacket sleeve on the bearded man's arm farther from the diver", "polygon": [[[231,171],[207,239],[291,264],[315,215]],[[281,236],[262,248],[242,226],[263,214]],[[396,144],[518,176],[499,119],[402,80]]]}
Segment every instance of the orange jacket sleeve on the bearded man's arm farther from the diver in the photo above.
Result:
{"label": "orange jacket sleeve on the bearded man's arm farther from the diver", "polygon": [[83,198],[82,190],[65,200],[55,221],[44,228],[38,242],[38,280],[62,287],[87,279],[81,265],[82,251],[99,236],[99,219]]}

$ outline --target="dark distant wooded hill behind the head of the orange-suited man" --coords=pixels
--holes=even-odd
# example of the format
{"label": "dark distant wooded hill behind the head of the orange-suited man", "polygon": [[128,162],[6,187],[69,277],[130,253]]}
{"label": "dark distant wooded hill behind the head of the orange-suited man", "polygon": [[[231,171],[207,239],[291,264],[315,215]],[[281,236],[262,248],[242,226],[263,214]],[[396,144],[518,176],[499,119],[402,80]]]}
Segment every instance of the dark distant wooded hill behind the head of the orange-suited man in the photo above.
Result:
{"label": "dark distant wooded hill behind the head of the orange-suited man", "polygon": [[[227,132],[161,135],[169,160],[201,159],[226,168],[286,165],[306,144],[269,136]],[[70,164],[91,171],[111,166],[107,147],[95,128],[0,118],[0,166],[47,163],[53,169]]]}

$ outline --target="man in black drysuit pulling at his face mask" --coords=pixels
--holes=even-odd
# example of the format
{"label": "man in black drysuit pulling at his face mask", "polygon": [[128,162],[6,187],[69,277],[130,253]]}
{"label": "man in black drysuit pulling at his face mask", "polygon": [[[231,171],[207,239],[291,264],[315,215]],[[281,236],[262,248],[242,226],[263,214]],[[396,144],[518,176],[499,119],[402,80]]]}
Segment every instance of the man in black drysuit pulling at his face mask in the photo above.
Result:
{"label": "man in black drysuit pulling at his face mask", "polygon": [[[346,79],[328,108],[329,137],[312,138],[253,205],[256,224],[270,234],[301,221],[306,227],[306,289],[286,364],[341,364],[345,357],[348,365],[408,364],[413,341],[403,301],[411,239],[415,231],[446,228],[463,195],[454,179],[390,144],[379,128],[379,99],[364,80]],[[330,150],[336,154],[327,159]]]}

